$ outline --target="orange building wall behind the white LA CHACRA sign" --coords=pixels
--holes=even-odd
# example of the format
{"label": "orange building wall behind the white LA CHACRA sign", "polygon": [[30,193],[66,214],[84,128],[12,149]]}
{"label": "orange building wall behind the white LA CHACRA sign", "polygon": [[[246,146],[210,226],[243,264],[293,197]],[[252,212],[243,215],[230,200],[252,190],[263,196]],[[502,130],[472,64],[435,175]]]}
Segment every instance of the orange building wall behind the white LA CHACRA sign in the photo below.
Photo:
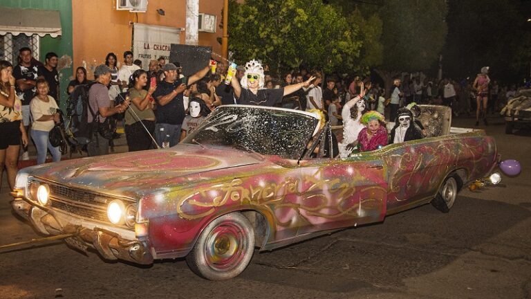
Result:
{"label": "orange building wall behind the white LA CHACRA sign", "polygon": [[[116,0],[72,0],[73,19],[73,71],[86,66],[88,78],[93,78],[95,66],[104,63],[105,56],[113,52],[120,64],[124,51],[131,50],[133,25],[186,27],[186,0],[149,0],[147,12],[115,10]],[[158,15],[162,8],[165,15]],[[221,54],[221,45],[216,41],[223,35],[219,28],[223,0],[199,0],[199,12],[217,16],[216,33],[199,33],[200,46],[212,46],[214,53]],[[131,22],[131,24],[129,24]],[[185,44],[185,32],[180,36]]]}

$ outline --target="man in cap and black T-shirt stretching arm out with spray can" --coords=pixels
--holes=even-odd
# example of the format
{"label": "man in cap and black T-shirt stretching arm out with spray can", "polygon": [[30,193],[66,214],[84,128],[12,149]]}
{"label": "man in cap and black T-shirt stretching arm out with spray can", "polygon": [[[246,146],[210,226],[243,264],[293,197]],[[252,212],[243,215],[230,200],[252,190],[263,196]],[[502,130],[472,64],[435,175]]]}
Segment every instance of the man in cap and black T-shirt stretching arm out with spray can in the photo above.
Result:
{"label": "man in cap and black T-shirt stretching arm out with spray can", "polygon": [[[207,65],[189,78],[178,78],[178,68],[175,64],[168,63],[162,67],[165,79],[157,85],[153,98],[157,103],[155,110],[155,138],[158,145],[162,146],[164,141],[169,142],[172,147],[179,143],[180,127],[185,119],[183,102],[183,91],[187,84],[194,84],[210,71]],[[183,83],[187,82],[187,83]]]}

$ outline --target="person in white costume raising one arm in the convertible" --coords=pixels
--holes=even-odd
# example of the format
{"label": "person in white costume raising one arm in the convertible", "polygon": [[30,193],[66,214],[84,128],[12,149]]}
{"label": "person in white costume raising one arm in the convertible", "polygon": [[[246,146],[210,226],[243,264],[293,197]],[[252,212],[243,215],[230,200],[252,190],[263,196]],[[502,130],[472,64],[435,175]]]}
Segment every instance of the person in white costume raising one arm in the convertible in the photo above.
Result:
{"label": "person in white costume raising one arm in the convertible", "polygon": [[365,127],[361,122],[362,115],[365,112],[364,87],[360,89],[360,94],[346,102],[341,111],[343,118],[343,141],[339,143],[339,156],[348,157],[356,147],[355,141],[362,129]]}

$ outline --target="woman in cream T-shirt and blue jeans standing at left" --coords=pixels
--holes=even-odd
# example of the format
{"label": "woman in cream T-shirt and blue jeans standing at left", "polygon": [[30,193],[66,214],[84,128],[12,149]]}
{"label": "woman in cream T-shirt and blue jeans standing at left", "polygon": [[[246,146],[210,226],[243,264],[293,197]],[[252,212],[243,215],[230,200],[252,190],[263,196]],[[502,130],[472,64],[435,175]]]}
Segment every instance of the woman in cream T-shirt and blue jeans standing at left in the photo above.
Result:
{"label": "woman in cream T-shirt and blue jeans standing at left", "polygon": [[37,148],[37,164],[46,161],[48,149],[54,162],[61,161],[61,151],[58,146],[50,143],[50,131],[59,123],[57,102],[53,96],[48,95],[50,85],[44,78],[37,80],[37,96],[30,102],[30,111],[33,118],[30,135]]}

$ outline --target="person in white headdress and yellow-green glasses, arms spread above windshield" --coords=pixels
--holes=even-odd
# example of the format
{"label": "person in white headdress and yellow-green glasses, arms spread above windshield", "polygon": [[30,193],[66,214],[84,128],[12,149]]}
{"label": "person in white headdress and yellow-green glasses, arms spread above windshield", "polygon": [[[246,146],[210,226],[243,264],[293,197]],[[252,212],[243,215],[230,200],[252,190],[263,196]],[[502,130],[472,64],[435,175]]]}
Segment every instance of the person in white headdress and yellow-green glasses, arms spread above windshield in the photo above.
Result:
{"label": "person in white headdress and yellow-green glasses, arms spread above windshield", "polygon": [[312,77],[305,82],[291,84],[279,89],[264,89],[263,68],[257,60],[251,60],[245,64],[245,74],[240,82],[236,76],[232,77],[231,84],[234,88],[236,102],[241,105],[257,105],[272,107],[282,102],[283,96],[298,91],[302,87],[310,86],[315,78]]}

